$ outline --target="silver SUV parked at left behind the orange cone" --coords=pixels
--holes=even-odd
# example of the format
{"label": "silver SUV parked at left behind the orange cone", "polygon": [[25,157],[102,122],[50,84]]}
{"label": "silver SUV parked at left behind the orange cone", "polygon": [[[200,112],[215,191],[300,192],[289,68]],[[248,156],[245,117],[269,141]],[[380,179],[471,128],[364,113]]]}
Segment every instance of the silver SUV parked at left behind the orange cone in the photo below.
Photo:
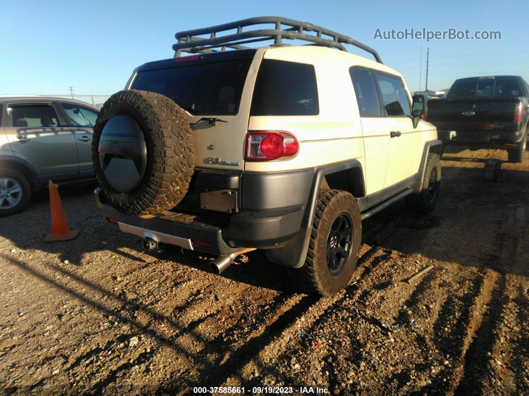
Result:
{"label": "silver SUV parked at left behind the orange cone", "polygon": [[97,113],[79,100],[0,96],[0,216],[21,211],[49,179],[94,177]]}

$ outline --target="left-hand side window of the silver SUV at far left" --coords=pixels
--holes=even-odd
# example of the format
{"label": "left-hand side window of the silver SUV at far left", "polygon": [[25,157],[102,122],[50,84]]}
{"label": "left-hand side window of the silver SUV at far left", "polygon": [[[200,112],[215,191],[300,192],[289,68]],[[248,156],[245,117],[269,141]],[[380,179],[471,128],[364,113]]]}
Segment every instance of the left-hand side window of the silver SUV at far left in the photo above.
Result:
{"label": "left-hand side window of the silver SUV at far left", "polygon": [[13,127],[59,126],[57,113],[51,104],[12,104],[7,107],[7,116]]}

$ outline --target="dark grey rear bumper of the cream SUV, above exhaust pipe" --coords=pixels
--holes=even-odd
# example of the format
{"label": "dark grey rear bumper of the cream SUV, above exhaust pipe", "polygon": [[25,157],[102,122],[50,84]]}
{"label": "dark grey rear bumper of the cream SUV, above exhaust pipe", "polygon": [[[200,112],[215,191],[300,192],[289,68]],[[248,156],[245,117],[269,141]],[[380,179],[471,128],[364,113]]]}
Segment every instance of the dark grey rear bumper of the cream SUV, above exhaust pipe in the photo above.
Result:
{"label": "dark grey rear bumper of the cream SUV, above exhaust pipe", "polygon": [[[245,247],[272,247],[299,232],[302,207],[279,211],[240,211],[230,217],[164,212],[154,217],[129,216],[116,210],[94,191],[104,220],[121,231],[161,243],[212,254],[230,254]],[[198,242],[198,243],[197,243]]]}

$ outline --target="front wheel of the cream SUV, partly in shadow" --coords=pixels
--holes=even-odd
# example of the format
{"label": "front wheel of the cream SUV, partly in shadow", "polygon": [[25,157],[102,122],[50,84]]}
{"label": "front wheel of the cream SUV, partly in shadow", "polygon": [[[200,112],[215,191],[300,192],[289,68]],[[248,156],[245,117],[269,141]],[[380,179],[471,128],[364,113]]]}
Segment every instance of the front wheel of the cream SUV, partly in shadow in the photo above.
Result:
{"label": "front wheel of the cream SUV, partly in shadow", "polygon": [[427,215],[437,204],[441,187],[441,161],[439,154],[430,153],[426,161],[421,192],[406,197],[408,209]]}

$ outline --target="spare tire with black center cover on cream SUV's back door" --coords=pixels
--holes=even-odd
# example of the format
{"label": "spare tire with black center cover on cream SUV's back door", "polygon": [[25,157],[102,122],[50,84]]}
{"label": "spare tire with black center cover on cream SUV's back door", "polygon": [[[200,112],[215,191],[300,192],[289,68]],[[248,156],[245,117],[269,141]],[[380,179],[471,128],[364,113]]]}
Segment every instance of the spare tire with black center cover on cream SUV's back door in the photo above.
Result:
{"label": "spare tire with black center cover on cream SUV's back door", "polygon": [[166,96],[123,90],[97,117],[92,160],[104,197],[129,215],[171,209],[187,194],[195,146],[183,110]]}

